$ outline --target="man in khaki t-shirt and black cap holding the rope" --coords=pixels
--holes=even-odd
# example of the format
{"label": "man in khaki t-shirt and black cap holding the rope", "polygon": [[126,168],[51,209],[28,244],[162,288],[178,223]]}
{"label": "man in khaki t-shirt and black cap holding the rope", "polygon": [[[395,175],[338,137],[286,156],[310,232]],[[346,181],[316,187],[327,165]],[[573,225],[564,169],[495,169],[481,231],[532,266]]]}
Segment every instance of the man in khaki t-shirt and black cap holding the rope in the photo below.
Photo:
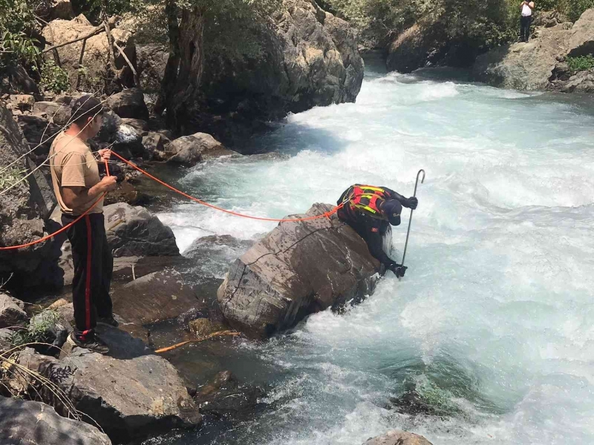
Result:
{"label": "man in khaki t-shirt and black cap holding the rope", "polygon": [[[71,125],[59,133],[50,149],[52,183],[64,226],[85,214],[66,231],[72,245],[72,301],[75,329],[68,343],[98,353],[109,348],[95,334],[97,321],[117,326],[109,295],[113,257],[103,224],[103,195],[115,189],[115,176],[99,177],[99,166],[87,140],[101,129],[103,108],[93,96],[72,104]],[[101,160],[110,158],[99,150]],[[89,210],[91,209],[91,210]]]}

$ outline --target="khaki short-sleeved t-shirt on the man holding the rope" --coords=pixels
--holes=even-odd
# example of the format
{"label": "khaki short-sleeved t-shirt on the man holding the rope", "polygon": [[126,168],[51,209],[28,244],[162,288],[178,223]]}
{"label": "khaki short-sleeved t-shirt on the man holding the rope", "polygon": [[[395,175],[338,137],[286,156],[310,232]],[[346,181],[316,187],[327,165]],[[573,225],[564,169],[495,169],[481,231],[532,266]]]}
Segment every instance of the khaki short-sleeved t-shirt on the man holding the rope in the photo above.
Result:
{"label": "khaki short-sleeved t-shirt on the man holding the rope", "polygon": [[[91,207],[95,200],[90,200],[85,205],[73,209],[64,204],[62,187],[85,187],[90,189],[101,182],[99,167],[91,149],[76,136],[68,136],[61,132],[55,138],[50,149],[50,166],[54,193],[61,207],[62,213],[80,215]],[[91,210],[90,213],[103,212],[103,199]]]}

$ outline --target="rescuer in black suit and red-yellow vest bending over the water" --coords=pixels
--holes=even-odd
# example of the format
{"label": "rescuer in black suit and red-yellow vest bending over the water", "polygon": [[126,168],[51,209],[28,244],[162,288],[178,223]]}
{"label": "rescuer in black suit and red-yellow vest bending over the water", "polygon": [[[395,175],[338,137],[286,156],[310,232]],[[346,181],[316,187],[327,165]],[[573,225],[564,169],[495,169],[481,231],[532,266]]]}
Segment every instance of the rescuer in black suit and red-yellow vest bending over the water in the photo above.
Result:
{"label": "rescuer in black suit and red-yellow vest bending over the water", "polygon": [[384,252],[384,234],[389,224],[400,225],[403,207],[416,209],[414,196],[405,198],[387,187],[354,184],[340,196],[338,218],[349,224],[367,243],[370,254],[381,263],[379,274],[391,270],[396,277],[404,277],[406,267],[396,263]]}

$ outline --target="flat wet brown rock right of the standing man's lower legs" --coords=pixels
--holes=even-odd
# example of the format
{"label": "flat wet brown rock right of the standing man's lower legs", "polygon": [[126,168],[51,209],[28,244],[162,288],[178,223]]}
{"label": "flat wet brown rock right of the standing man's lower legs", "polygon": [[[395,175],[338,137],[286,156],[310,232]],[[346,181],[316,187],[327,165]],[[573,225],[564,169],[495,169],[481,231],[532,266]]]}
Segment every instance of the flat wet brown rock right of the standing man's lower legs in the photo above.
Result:
{"label": "flat wet brown rock right of the standing man's lower legs", "polygon": [[198,306],[196,295],[179,272],[152,272],[113,291],[113,312],[136,324],[173,319]]}

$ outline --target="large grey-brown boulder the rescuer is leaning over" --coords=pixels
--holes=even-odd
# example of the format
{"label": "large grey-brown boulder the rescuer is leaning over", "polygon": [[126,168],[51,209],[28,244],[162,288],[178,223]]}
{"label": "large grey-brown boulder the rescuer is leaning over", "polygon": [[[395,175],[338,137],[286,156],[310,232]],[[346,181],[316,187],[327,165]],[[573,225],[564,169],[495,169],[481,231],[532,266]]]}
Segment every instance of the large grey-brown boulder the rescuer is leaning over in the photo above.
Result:
{"label": "large grey-brown boulder the rescuer is leaning over", "polygon": [[[314,204],[296,217],[332,208]],[[307,314],[369,295],[378,268],[363,239],[335,214],[282,222],[231,265],[217,298],[233,328],[267,337]]]}

